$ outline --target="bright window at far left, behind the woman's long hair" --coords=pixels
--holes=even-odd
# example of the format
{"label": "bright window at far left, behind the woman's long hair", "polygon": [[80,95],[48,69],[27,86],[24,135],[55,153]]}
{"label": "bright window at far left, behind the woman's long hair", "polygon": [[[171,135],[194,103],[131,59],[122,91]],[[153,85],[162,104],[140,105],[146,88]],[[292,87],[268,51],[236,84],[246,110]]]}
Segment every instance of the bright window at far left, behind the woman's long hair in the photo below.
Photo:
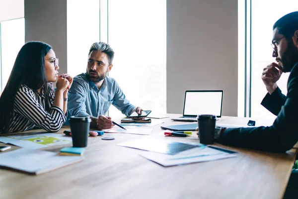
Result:
{"label": "bright window at far left, behind the woman's long hair", "polygon": [[0,25],[0,91],[2,92],[9,78],[15,58],[19,50],[25,43],[25,20],[24,18],[19,18],[14,20],[2,21]]}

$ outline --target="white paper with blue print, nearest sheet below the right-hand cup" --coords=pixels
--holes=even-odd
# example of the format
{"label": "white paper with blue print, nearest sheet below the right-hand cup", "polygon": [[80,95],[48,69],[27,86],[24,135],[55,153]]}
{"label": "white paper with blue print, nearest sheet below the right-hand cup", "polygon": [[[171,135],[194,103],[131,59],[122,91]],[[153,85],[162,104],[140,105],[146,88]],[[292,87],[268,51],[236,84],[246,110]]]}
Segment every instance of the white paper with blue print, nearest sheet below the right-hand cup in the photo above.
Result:
{"label": "white paper with blue print, nearest sheet below the right-hand cup", "polygon": [[155,152],[141,152],[140,156],[156,162],[164,167],[183,165],[195,162],[206,162],[235,157],[237,153],[225,149],[216,149],[212,146],[195,147],[175,155]]}

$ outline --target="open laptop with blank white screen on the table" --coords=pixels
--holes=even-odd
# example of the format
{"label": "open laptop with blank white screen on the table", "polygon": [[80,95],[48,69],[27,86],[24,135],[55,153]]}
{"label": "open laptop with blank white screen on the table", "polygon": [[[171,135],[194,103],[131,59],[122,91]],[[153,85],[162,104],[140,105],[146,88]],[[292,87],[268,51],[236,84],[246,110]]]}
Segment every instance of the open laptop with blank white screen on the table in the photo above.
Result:
{"label": "open laptop with blank white screen on the table", "polygon": [[222,117],[224,91],[186,91],[183,116],[174,121],[197,121],[199,114]]}

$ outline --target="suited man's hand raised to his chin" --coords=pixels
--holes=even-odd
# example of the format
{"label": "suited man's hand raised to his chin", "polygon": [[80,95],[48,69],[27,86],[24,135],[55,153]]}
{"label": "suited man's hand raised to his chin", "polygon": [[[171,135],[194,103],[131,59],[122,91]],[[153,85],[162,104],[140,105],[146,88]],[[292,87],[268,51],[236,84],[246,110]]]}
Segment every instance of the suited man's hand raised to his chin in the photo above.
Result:
{"label": "suited man's hand raised to his chin", "polygon": [[271,63],[262,72],[262,80],[266,86],[268,93],[271,95],[277,88],[276,82],[282,75],[281,67],[277,63]]}

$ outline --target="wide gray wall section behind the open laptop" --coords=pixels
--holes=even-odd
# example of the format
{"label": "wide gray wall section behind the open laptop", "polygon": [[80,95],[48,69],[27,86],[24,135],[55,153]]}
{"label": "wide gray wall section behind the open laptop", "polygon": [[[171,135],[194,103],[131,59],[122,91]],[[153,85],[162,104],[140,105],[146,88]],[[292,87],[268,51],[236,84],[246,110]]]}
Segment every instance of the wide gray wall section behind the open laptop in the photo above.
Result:
{"label": "wide gray wall section behind the open laptop", "polygon": [[224,90],[237,116],[237,0],[167,0],[167,113],[186,90]]}

